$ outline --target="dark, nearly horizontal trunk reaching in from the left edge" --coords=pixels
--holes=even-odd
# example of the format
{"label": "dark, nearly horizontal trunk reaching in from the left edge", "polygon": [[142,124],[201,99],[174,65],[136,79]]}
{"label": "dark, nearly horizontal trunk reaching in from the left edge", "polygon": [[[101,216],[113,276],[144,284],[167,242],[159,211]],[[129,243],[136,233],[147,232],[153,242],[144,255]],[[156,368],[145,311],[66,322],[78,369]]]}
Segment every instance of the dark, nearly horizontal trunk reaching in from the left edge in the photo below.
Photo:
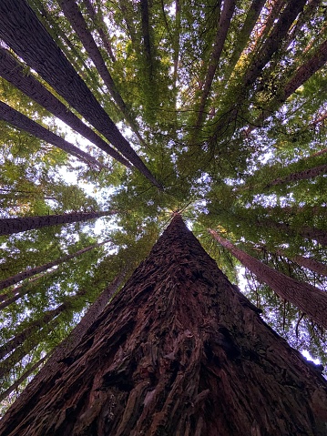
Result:
{"label": "dark, nearly horizontal trunk reaching in from the left edge", "polygon": [[106,217],[107,215],[113,215],[115,213],[117,212],[74,212],[63,215],[45,215],[39,217],[0,218],[0,236],[13,235],[13,233],[19,233],[34,228],[87,221],[87,219]]}

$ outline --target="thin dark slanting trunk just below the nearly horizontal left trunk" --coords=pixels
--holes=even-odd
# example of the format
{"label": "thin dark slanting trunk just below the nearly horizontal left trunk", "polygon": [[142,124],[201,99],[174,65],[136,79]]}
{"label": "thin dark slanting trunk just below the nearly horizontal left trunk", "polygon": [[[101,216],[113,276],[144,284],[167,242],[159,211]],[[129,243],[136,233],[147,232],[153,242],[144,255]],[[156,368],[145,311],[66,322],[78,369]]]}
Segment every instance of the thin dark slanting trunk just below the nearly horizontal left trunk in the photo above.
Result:
{"label": "thin dark slanting trunk just below the nearly horizontal left trunk", "polygon": [[[40,272],[46,271],[46,269],[56,267],[56,265],[59,265],[60,263],[66,262],[69,259],[77,258],[77,256],[80,256],[84,253],[87,253],[87,251],[89,251],[93,248],[101,247],[102,245],[107,244],[107,242],[109,242],[109,239],[106,239],[103,242],[99,242],[99,243],[94,244],[94,245],[90,245],[89,247],[79,249],[78,251],[76,251],[73,254],[63,256],[62,258],[53,260],[52,262],[47,262],[44,265],[40,265],[39,267],[26,269],[25,271],[20,272],[19,274],[15,274],[15,276],[9,277],[8,279],[1,280],[0,281],[0,290],[8,288],[8,286],[15,285],[15,283],[18,283],[21,280],[25,280],[28,277],[35,276],[36,274],[39,274]],[[1,295],[0,295],[0,300],[1,300]]]}

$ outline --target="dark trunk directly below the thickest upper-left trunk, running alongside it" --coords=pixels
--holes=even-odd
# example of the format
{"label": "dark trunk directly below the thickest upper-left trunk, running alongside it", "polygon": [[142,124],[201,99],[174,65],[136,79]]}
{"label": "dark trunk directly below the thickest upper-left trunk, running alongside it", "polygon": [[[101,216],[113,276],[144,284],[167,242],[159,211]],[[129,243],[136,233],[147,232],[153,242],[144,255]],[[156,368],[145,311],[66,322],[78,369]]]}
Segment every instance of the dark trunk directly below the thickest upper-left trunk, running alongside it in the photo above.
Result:
{"label": "dark trunk directly below the thickest upper-left trunk, running alongside it", "polygon": [[125,157],[122,157],[118,151],[110,147],[90,127],[87,127],[67,106],[61,103],[56,96],[51,94],[45,86],[36,80],[34,76],[26,75],[24,68],[2,47],[0,47],[0,76],[23,91],[26,96],[31,97],[36,103],[45,107],[51,114],[64,121],[67,126],[76,130],[83,137],[86,137],[95,146],[101,148],[109,156],[118,160],[125,167],[131,167]]}

